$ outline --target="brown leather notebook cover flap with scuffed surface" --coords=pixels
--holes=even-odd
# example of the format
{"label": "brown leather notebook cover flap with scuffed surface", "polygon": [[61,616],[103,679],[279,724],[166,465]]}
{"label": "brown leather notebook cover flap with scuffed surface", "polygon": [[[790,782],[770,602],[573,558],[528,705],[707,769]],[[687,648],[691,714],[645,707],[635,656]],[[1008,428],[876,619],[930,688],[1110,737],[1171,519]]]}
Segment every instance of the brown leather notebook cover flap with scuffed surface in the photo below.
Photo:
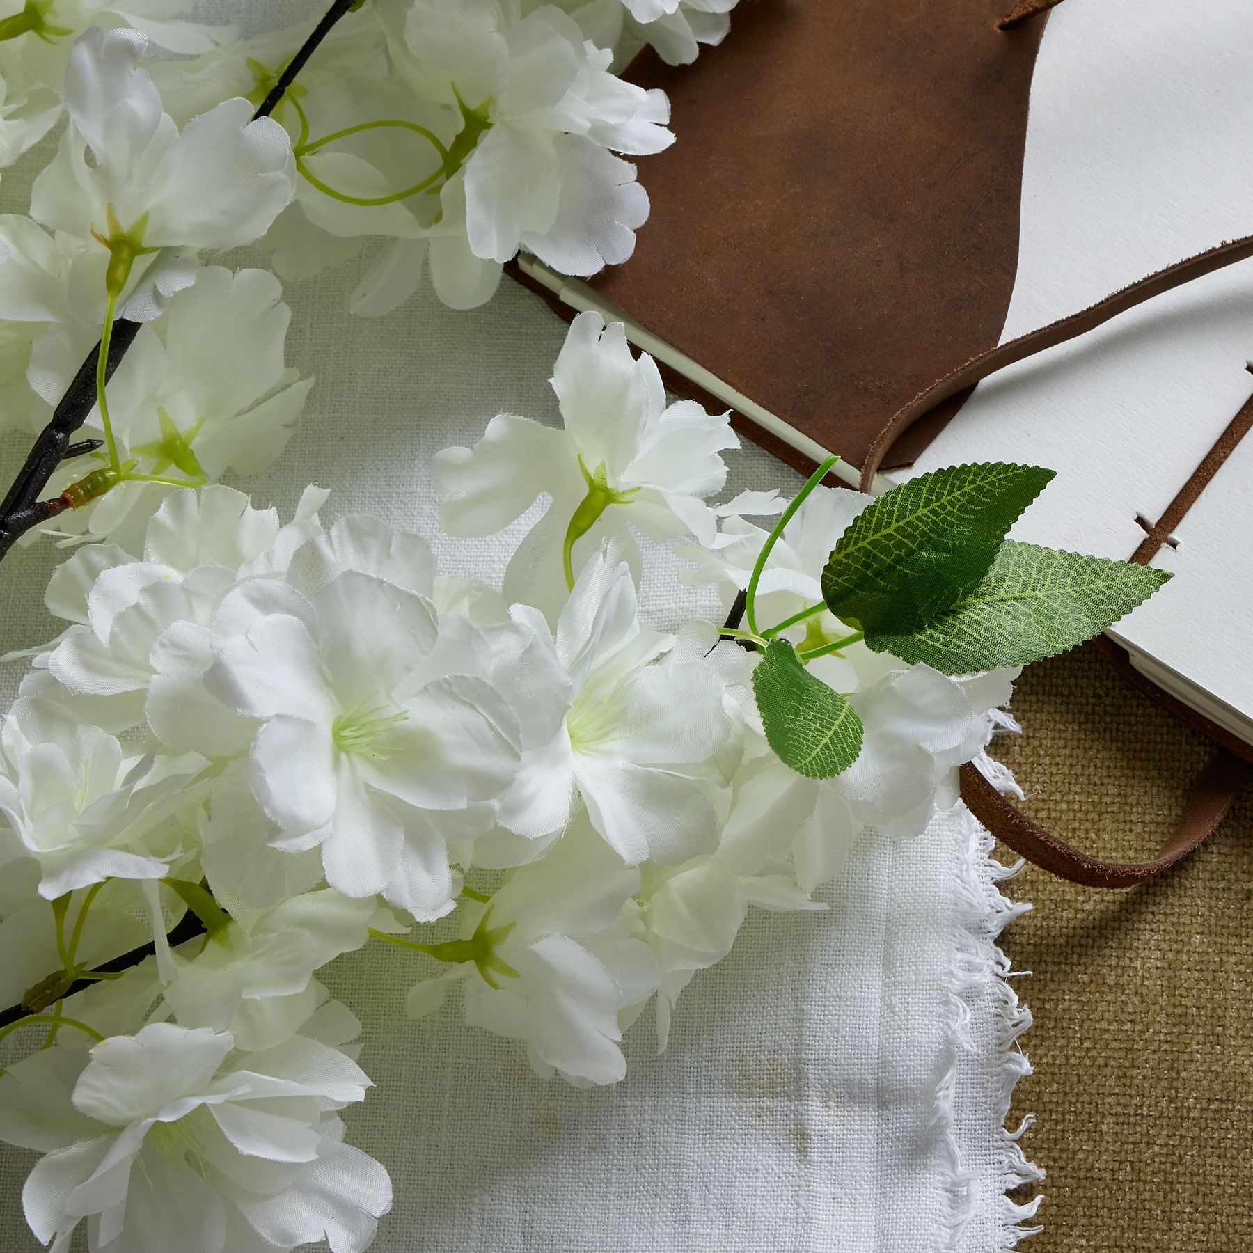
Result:
{"label": "brown leather notebook cover flap with scuffed surface", "polygon": [[[1005,322],[1044,26],[999,31],[1006,8],[743,0],[727,40],[694,65],[645,50],[626,76],[669,95],[678,140],[640,163],[652,213],[634,256],[588,286],[861,465],[901,405],[994,346]],[[727,408],[664,372],[680,395]],[[964,398],[890,464],[910,461]],[[787,431],[734,420],[812,469]]]}

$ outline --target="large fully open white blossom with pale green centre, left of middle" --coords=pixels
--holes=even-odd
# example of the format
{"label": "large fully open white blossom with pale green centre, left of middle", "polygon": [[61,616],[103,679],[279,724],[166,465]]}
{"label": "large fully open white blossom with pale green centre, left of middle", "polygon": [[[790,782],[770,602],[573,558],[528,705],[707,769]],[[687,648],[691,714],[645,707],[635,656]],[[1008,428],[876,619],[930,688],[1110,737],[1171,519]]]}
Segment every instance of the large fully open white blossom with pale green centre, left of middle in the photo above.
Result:
{"label": "large fully open white blossom with pale green centre, left of middle", "polygon": [[439,917],[455,891],[447,842],[490,828],[516,776],[517,715],[476,640],[440,639],[425,596],[347,571],[292,598],[227,638],[204,674],[257,720],[252,784],[273,842],[320,845],[347,896]]}

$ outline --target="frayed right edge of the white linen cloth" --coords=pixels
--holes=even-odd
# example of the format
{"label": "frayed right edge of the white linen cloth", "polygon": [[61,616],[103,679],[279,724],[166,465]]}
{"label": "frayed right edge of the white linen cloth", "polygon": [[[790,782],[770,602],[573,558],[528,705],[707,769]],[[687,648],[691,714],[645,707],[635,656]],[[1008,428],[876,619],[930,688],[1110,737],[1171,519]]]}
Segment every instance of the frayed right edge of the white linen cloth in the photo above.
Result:
{"label": "frayed right edge of the white linen cloth", "polygon": [[991,856],[995,841],[965,804],[955,806],[951,814],[956,821],[955,840],[962,856],[954,901],[952,967],[945,989],[950,1011],[949,1051],[946,1069],[936,1085],[935,1128],[938,1134],[940,1170],[947,1205],[941,1219],[936,1248],[937,1253],[956,1253],[961,1247],[962,1234],[982,1200],[980,1175],[967,1168],[961,1158],[956,1123],[956,1088],[959,1059],[962,1054],[970,1055],[977,1051],[977,1041],[972,1034],[971,1000],[975,996],[986,996],[992,1005],[997,1053],[999,1131],[994,1170],[997,1188],[995,1203],[1000,1213],[995,1224],[997,1229],[995,1249],[996,1253],[1001,1253],[1016,1248],[1021,1240],[1042,1230],[1039,1225],[1027,1225],[1035,1218],[1042,1195],[1036,1195],[1024,1204],[1009,1197],[1012,1189],[1044,1179],[1044,1170],[1027,1160],[1020,1143],[1022,1134],[1034,1121],[1032,1115],[1026,1115],[1015,1130],[1005,1126],[1014,1088],[1019,1079],[1031,1074],[1031,1064],[1017,1046],[1019,1036],[1031,1025],[1031,1011],[1019,1001],[1017,994],[1010,985],[1010,961],[996,944],[1001,931],[1026,913],[1031,906],[1010,901],[997,887],[1005,880],[1012,878],[1022,868],[1022,862],[1002,866],[995,861]]}

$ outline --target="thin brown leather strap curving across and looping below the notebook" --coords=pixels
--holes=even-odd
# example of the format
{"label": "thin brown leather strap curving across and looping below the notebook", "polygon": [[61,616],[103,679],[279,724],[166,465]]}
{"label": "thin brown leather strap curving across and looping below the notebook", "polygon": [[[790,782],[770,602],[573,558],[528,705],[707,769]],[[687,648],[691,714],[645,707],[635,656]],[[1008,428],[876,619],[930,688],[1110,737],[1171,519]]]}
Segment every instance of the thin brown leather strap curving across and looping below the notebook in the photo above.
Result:
{"label": "thin brown leather strap curving across and looping below the notebook", "polygon": [[[1022,5],[1019,8],[1021,9]],[[1011,14],[1010,16],[1012,18],[1014,15]],[[1217,248],[1198,253],[1188,261],[1178,262],[1167,269],[1150,274],[1148,278],[1141,278],[1130,287],[1124,287],[1120,292],[1108,296],[1080,313],[1074,313],[1037,331],[1031,331],[1029,335],[1010,340],[1009,343],[999,345],[967,361],[966,365],[954,370],[905,405],[892,416],[883,430],[880,431],[878,436],[871,444],[870,452],[862,465],[862,491],[871,490],[875,475],[878,472],[883,459],[896,439],[950,396],[972,387],[980,380],[986,378],[997,370],[1004,370],[1005,366],[1014,365],[1037,352],[1044,352],[1046,348],[1065,343],[1068,340],[1095,330],[1101,323],[1108,322],[1110,318],[1116,317],[1119,313],[1143,301],[1152,299],[1154,296],[1190,282],[1193,278],[1200,278],[1204,274],[1213,273],[1215,269],[1244,261],[1248,257],[1253,257],[1253,236],[1245,236],[1232,243],[1219,244]],[[1238,434],[1234,434],[1235,439],[1243,435],[1243,429],[1240,427],[1243,426],[1244,417],[1245,413],[1242,410],[1240,415],[1238,415],[1237,420],[1228,429],[1233,434],[1238,431]],[[1222,445],[1223,441],[1219,441],[1219,444]],[[1204,466],[1200,467],[1200,470],[1204,469]],[[1197,490],[1199,491],[1199,487]],[[1167,523],[1169,525],[1164,525]],[[1139,563],[1150,560],[1165,536],[1169,535],[1170,526],[1173,525],[1174,520],[1164,516],[1159,525],[1149,533],[1145,543],[1133,554],[1131,560]],[[1093,644],[1100,652],[1101,657],[1119,674],[1126,678],[1128,682],[1157,700],[1158,704],[1167,708],[1170,713],[1208,736],[1217,746],[1217,751],[1210,758],[1209,764],[1193,786],[1179,821],[1167,837],[1157,857],[1143,862],[1109,862],[1091,857],[1073,845],[1066,843],[1066,841],[1059,840],[1039,823],[1032,822],[1016,806],[1006,801],[974,766],[964,766],[961,768],[961,798],[966,802],[971,813],[999,841],[1007,845],[1020,856],[1026,857],[1027,861],[1058,875],[1060,878],[1070,880],[1073,883],[1083,883],[1088,887],[1131,887],[1160,873],[1168,866],[1173,866],[1213,833],[1214,828],[1230,808],[1235,796],[1253,778],[1253,747],[1245,744],[1222,727],[1215,725],[1208,718],[1202,717],[1194,709],[1164,692],[1152,679],[1140,674],[1131,665],[1126,652],[1114,644],[1113,640],[1100,637]]]}

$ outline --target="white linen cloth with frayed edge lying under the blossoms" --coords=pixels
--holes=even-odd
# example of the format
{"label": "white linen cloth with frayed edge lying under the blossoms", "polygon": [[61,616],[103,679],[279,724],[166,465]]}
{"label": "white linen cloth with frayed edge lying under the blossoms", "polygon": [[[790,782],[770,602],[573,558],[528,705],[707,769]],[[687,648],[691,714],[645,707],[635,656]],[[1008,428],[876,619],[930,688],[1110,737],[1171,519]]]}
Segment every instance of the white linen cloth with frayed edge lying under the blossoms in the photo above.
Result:
{"label": "white linen cloth with frayed edge lying under the blossoms", "polygon": [[[236,16],[231,9],[209,15]],[[247,25],[317,11],[267,4]],[[647,184],[647,159],[642,177]],[[18,179],[6,178],[0,200],[25,208]],[[469,313],[422,291],[387,317],[355,320],[347,298],[361,272],[350,266],[286,293],[287,360],[317,383],[283,457],[238,486],[289,516],[301,489],[320,482],[332,489],[323,516],[376,514],[432,539],[444,571],[499,584],[520,528],[441,539],[430,459],[472,444],[499,411],[555,422],[548,377],[564,326],[509,279]],[[0,452],[15,466],[19,441]],[[801,481],[751,445],[728,461],[727,497],[744,487],[791,494]],[[673,561],[648,555],[650,619],[715,613],[710,594],[677,580]],[[0,566],[0,652],[56,632],[41,595],[64,556],[43,541]],[[5,702],[20,674],[20,663],[0,673]],[[999,977],[995,936],[1011,910],[990,845],[960,807],[917,841],[863,841],[826,891],[828,912],[754,911],[732,955],[683,994],[663,1056],[645,1014],[628,1034],[626,1080],[606,1089],[536,1079],[515,1041],[465,1026],[455,1006],[429,1024],[406,1020],[405,990],[429,966],[417,955],[371,945],[342,959],[322,977],[362,1019],[361,1063],[377,1084],[346,1111],[350,1136],[396,1189],[375,1249],[1012,1247],[1034,1208],[1015,1207],[1006,1188],[1037,1177],[1002,1129],[1027,1069],[1014,1040],[1029,1015]],[[38,1248],[20,1205],[30,1164],[0,1148],[0,1248],[13,1253]]]}

